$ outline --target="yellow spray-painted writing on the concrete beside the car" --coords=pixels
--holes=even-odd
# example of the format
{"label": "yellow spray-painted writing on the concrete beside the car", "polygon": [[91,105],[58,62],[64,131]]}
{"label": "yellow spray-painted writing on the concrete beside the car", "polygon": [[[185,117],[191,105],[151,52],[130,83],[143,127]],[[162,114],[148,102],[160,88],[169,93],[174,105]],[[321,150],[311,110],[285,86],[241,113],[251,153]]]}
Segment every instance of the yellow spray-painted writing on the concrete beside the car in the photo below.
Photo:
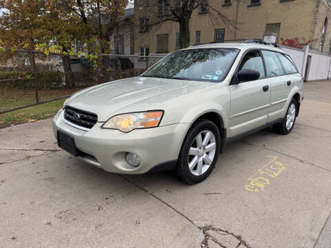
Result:
{"label": "yellow spray-painted writing on the concrete beside the car", "polygon": [[279,176],[281,172],[285,171],[286,167],[279,161],[277,156],[267,156],[271,158],[266,165],[263,165],[254,175],[250,176],[249,184],[245,185],[245,189],[250,192],[264,191],[265,185],[270,185],[270,179]]}

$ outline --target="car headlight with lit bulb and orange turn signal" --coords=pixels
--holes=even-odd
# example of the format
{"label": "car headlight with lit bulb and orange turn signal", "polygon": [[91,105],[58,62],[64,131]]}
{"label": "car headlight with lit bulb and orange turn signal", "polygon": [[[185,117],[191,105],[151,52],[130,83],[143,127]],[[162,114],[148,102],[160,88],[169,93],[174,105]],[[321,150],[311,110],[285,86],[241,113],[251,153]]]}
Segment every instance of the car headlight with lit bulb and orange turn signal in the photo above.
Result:
{"label": "car headlight with lit bulb and orange turn signal", "polygon": [[158,127],[163,110],[119,114],[112,116],[102,128],[116,129],[122,132],[130,132],[135,129]]}

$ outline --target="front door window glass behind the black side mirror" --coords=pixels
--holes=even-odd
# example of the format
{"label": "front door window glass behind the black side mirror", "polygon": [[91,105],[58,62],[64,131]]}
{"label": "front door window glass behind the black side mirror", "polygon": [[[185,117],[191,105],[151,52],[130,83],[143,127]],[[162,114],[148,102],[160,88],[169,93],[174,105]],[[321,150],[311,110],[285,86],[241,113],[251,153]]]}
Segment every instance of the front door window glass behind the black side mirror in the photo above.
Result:
{"label": "front door window glass behind the black side mirror", "polygon": [[241,70],[256,70],[260,72],[259,79],[265,77],[263,61],[258,51],[252,51],[245,54],[239,66],[239,71]]}

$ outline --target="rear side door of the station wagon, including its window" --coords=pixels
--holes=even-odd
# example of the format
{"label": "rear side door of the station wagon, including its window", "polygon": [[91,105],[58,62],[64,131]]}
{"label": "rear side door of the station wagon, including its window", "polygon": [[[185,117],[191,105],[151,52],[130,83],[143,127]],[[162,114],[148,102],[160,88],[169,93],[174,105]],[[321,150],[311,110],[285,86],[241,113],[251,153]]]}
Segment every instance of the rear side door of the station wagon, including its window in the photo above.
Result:
{"label": "rear side door of the station wagon, including its window", "polygon": [[290,76],[285,74],[278,54],[278,52],[262,50],[266,76],[271,84],[268,122],[283,117],[283,108],[290,93],[288,81],[291,81],[291,79]]}

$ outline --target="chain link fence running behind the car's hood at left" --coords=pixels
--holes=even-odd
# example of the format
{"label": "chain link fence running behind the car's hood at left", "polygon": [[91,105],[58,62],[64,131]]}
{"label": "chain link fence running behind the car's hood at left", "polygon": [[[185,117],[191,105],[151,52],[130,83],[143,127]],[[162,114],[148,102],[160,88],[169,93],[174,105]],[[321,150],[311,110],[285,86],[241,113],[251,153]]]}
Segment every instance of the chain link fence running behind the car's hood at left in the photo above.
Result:
{"label": "chain link fence running behind the car's hood at left", "polygon": [[162,58],[103,54],[89,61],[37,51],[0,52],[0,114],[64,99],[92,85],[139,76]]}

